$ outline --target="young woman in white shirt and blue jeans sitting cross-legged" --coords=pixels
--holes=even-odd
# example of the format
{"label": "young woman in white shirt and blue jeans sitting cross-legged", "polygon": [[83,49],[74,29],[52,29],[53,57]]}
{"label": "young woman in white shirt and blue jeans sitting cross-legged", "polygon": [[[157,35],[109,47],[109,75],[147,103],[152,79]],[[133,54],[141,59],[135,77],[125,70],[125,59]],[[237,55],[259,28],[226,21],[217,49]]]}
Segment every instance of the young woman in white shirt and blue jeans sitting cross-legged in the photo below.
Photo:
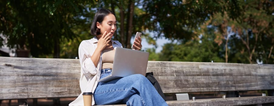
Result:
{"label": "young woman in white shirt and blue jeans sitting cross-legged", "polygon": [[[111,74],[115,49],[122,48],[119,41],[111,39],[115,31],[114,13],[106,9],[98,10],[91,25],[91,34],[95,37],[82,41],[79,46],[81,92],[93,92],[92,105],[167,106],[143,75],[135,74],[98,83],[98,80]],[[142,48],[141,42],[140,37],[135,39],[135,50]],[[84,105],[82,93],[69,105]]]}

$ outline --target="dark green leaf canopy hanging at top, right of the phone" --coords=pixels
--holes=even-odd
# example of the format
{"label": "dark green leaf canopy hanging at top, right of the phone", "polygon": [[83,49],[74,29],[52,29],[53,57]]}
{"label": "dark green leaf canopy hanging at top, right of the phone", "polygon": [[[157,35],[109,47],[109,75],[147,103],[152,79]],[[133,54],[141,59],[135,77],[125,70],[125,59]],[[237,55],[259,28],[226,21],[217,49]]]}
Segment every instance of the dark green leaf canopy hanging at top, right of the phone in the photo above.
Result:
{"label": "dark green leaf canopy hanging at top, right of the phone", "polygon": [[142,6],[146,10],[141,16],[144,27],[157,33],[155,37],[171,40],[192,38],[195,35],[192,28],[203,24],[221,8],[218,2],[208,0],[148,0]]}

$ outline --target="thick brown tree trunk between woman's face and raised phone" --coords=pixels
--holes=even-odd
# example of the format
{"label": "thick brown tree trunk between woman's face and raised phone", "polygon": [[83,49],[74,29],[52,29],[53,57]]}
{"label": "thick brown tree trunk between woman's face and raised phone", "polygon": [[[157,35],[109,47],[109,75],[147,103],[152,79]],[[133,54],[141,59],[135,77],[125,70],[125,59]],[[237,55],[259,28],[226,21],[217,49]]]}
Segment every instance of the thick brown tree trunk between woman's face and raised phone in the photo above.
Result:
{"label": "thick brown tree trunk between woman's face and raised phone", "polygon": [[127,34],[127,40],[126,40],[126,48],[131,48],[130,39],[132,36],[132,28],[133,28],[132,22],[133,22],[133,15],[134,15],[134,2],[132,0],[129,1],[128,12],[129,12],[129,18],[128,18],[128,34]]}

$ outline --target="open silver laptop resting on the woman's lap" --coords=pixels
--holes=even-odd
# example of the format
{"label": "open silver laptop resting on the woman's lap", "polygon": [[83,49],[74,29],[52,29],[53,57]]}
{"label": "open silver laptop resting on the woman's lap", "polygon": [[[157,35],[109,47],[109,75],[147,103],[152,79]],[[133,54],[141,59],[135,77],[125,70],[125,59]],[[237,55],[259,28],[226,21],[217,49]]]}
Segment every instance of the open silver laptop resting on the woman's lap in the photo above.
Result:
{"label": "open silver laptop resting on the woman's lap", "polygon": [[133,74],[146,75],[149,52],[116,48],[111,75],[99,80],[108,82]]}

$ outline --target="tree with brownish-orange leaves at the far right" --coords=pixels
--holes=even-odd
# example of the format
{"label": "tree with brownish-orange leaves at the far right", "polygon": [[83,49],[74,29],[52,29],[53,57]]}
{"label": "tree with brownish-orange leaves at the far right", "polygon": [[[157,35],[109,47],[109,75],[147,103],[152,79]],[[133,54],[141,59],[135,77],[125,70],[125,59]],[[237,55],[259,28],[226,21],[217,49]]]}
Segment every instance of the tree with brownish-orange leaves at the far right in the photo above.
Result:
{"label": "tree with brownish-orange leaves at the far right", "polygon": [[[266,63],[269,63],[268,61],[271,59],[272,53],[271,48],[273,48],[273,41],[271,41],[273,39],[273,11],[271,10],[273,2],[240,1],[236,4],[236,7],[239,7],[238,9],[225,6],[223,9],[224,12],[212,15],[207,22],[207,25],[214,25],[217,27],[215,41],[218,42],[219,45],[222,44],[223,40],[226,42],[226,61],[228,61],[228,45],[230,45],[230,47],[235,47],[234,45],[238,44],[234,43],[241,42],[242,45],[231,48],[231,51],[244,54],[241,57],[247,58],[248,63],[250,64],[255,63],[256,59],[263,60],[262,57],[266,58]],[[238,11],[233,12],[230,10]],[[235,13],[241,15],[234,16]],[[230,39],[227,33],[228,28],[235,34],[235,37],[231,39],[233,41],[230,40],[231,43],[228,43],[228,40]],[[238,41],[237,38],[240,41]],[[269,41],[267,39],[271,40]],[[265,42],[268,42],[268,44]],[[241,59],[245,60],[243,58]],[[246,62],[241,61],[241,63]]]}

